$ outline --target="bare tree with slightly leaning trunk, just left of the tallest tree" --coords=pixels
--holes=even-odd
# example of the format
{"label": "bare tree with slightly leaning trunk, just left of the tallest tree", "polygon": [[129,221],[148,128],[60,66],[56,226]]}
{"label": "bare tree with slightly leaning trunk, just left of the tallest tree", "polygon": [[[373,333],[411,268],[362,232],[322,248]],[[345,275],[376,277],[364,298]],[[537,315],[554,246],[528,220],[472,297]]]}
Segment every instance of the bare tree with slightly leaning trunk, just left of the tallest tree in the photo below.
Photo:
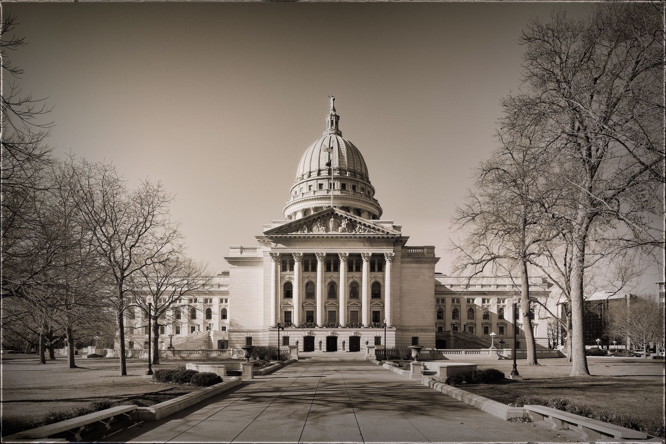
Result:
{"label": "bare tree with slightly leaning trunk, just left of the tallest tree", "polygon": [[[540,246],[557,236],[544,221],[543,200],[551,190],[543,187],[549,168],[547,150],[538,146],[539,134],[531,128],[506,130],[498,134],[500,148],[482,162],[468,203],[458,208],[454,224],[465,233],[458,252],[457,272],[471,270],[468,280],[492,268],[505,270],[513,279],[520,276],[523,331],[527,341],[527,365],[538,365],[531,322],[529,268]],[[469,281],[468,281],[469,282]]]}

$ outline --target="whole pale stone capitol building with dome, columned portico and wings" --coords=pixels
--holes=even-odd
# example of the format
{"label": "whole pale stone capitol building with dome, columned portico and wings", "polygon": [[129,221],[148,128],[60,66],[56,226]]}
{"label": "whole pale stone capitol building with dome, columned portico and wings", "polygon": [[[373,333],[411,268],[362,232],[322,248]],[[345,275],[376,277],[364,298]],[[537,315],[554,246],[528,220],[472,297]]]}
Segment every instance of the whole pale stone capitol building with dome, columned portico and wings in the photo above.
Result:
{"label": "whole pale stone capitol building with dome, columned portico and wings", "polygon": [[[361,351],[384,343],[480,349],[490,347],[491,333],[508,348],[519,282],[436,273],[435,247],[409,246],[402,226],[382,218],[368,166],[342,136],[333,97],[325,120],[324,134],[298,162],[282,218],[264,225],[258,244],[231,246],[229,271],[202,298],[180,301],[189,308],[187,319],[161,333],[174,335],[176,349],[278,341],[299,351]],[[532,278],[530,291],[545,298],[550,286]],[[535,308],[534,333],[545,348],[542,310]],[[133,332],[129,348],[147,347],[145,328]],[[519,336],[524,347],[522,330]]]}

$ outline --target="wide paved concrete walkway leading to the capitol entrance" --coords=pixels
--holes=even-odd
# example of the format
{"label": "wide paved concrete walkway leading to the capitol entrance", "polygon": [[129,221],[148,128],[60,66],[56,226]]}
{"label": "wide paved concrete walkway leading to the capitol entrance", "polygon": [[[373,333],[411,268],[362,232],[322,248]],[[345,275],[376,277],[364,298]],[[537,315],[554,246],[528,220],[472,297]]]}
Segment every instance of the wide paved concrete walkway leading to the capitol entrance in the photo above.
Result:
{"label": "wide paved concrete walkway leading to the capitol entrance", "polygon": [[503,421],[358,357],[311,355],[161,421],[114,433],[105,441],[576,441],[567,435],[568,439],[547,429],[543,421]]}

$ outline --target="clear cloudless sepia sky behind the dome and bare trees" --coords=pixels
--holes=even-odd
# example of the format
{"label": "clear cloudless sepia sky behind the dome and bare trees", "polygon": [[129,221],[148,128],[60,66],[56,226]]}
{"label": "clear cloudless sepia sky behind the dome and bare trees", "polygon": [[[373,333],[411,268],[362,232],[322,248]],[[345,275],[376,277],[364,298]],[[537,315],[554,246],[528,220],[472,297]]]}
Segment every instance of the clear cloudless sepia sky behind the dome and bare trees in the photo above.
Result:
{"label": "clear cloudless sepia sky behind the dome and bare trees", "polygon": [[[555,2],[15,2],[17,82],[55,154],[175,195],[188,254],[228,270],[282,206],[335,94],[384,214],[452,266],[450,221],[519,87],[521,29]],[[6,81],[6,79],[5,79]],[[653,292],[650,270],[637,288]]]}

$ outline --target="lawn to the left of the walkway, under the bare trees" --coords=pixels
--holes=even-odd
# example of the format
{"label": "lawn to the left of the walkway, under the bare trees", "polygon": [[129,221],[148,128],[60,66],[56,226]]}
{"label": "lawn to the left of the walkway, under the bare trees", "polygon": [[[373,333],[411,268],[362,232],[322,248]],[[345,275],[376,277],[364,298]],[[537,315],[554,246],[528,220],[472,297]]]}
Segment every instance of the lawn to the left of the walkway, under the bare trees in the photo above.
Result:
{"label": "lawn to the left of the walkway, under the bare trees", "polygon": [[[112,403],[153,405],[190,393],[198,387],[153,383],[144,378],[146,359],[127,359],[127,376],[119,376],[119,359],[77,358],[68,369],[65,357],[40,365],[35,355],[7,355],[1,361],[1,417],[41,418],[49,411],[78,407],[99,399]],[[153,370],[175,368],[180,361],[153,365]]]}

